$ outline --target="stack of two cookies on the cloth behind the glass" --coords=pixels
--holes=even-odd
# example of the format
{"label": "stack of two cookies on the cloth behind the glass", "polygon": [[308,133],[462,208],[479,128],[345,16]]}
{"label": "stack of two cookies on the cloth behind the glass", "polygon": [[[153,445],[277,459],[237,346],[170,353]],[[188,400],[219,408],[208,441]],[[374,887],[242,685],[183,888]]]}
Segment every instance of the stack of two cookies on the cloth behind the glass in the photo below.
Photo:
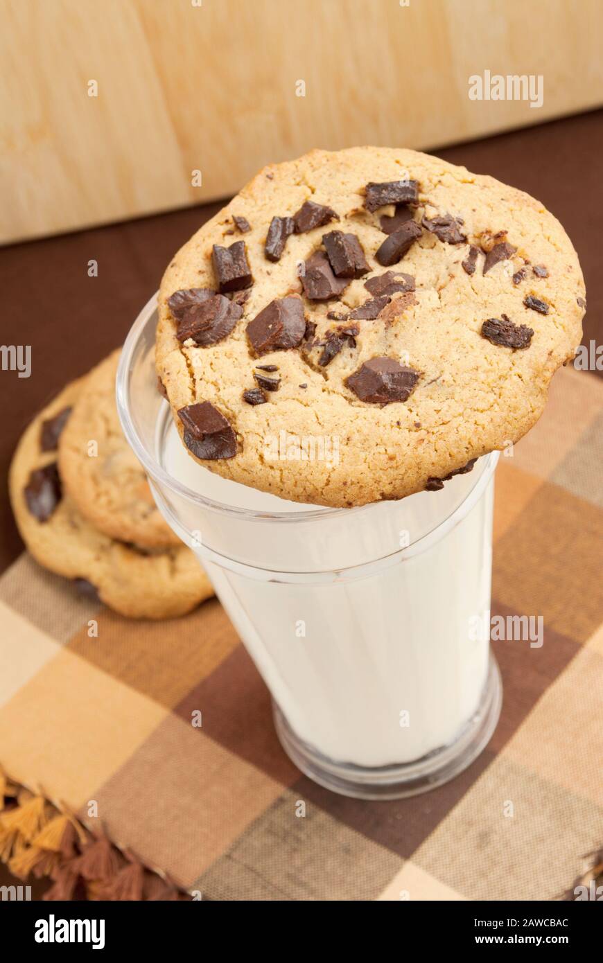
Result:
{"label": "stack of two cookies on the cloth behind the glass", "polygon": [[45,568],[122,615],[170,618],[213,589],[162,518],[121,432],[118,359],[114,351],[68,384],[23,434],[10,474],[14,517]]}

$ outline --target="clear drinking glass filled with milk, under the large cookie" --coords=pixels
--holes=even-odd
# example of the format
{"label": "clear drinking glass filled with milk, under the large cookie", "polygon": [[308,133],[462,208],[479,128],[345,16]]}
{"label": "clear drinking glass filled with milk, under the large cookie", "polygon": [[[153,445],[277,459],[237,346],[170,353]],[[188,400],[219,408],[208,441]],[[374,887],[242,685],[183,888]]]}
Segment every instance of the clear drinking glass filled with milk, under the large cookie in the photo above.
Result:
{"label": "clear drinking glass filled with milk, under the large cookie", "polygon": [[222,479],[188,455],[157,389],[156,324],[153,298],[121,354],[121,425],[271,691],[283,748],[316,782],[364,799],[453,778],[501,707],[489,648],[498,453],[440,491],[362,508]]}

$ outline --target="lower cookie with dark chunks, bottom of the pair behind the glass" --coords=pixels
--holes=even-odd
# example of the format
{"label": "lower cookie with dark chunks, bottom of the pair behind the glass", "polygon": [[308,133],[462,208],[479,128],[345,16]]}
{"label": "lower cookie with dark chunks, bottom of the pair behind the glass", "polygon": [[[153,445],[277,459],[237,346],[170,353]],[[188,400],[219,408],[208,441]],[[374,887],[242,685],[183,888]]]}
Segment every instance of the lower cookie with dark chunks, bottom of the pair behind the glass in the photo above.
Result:
{"label": "lower cookie with dark chunks, bottom of the pair behind the glass", "polygon": [[23,434],[10,472],[14,517],[27,548],[45,568],[72,579],[116,612],[170,618],[194,609],[213,588],[181,543],[144,550],[98,532],[66,494],[58,446],[86,378],[74,381]]}

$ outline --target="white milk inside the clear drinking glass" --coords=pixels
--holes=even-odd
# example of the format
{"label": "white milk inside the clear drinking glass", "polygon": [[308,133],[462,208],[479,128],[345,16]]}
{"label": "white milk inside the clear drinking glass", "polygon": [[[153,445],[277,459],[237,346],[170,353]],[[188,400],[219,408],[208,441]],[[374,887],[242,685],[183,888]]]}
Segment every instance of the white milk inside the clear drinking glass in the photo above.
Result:
{"label": "white milk inside the clear drinking glass", "polygon": [[[224,505],[270,512],[313,508],[208,472],[187,455],[173,426],[162,450],[172,478]],[[470,478],[459,476],[446,488],[459,485],[461,492]],[[417,525],[423,524],[419,514],[426,506],[441,511],[433,508],[437,501],[427,499],[453,496],[450,489],[446,496],[422,493],[404,505],[380,503],[355,509],[361,514],[350,512],[344,516],[344,524],[349,518],[350,563],[358,551],[360,524],[367,532],[390,523],[399,527],[402,506],[412,531],[415,514]],[[308,577],[314,584],[289,583],[277,572],[273,581],[266,575],[249,578],[208,561],[197,549],[224,609],[302,741],[331,760],[380,767],[418,760],[459,737],[485,688],[488,638],[472,638],[471,620],[489,612],[492,499],[490,479],[451,531],[431,544],[423,539],[415,554],[389,566],[378,564],[379,571],[354,581],[334,577],[316,584]],[[215,524],[220,533],[219,516]],[[187,538],[194,521],[182,525],[179,534]],[[252,536],[241,532],[241,554],[252,554],[253,539],[255,544],[261,539],[268,557],[273,551],[275,558],[282,557],[283,538],[294,556],[297,549],[312,550],[310,536],[298,528],[255,525]],[[296,545],[296,538],[305,541]],[[232,550],[226,554],[234,555]]]}

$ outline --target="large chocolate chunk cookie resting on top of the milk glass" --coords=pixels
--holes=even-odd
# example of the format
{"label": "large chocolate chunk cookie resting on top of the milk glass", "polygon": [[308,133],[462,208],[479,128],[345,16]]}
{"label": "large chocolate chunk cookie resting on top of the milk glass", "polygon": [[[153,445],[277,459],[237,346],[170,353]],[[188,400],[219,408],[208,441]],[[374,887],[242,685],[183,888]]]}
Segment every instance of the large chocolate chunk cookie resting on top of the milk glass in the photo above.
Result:
{"label": "large chocolate chunk cookie resting on top of the milk glass", "polygon": [[412,150],[314,150],[172,258],[157,372],[206,468],[358,506],[437,490],[528,431],[584,295],[533,197]]}

